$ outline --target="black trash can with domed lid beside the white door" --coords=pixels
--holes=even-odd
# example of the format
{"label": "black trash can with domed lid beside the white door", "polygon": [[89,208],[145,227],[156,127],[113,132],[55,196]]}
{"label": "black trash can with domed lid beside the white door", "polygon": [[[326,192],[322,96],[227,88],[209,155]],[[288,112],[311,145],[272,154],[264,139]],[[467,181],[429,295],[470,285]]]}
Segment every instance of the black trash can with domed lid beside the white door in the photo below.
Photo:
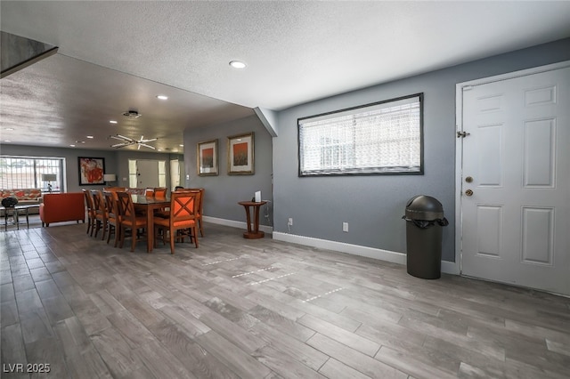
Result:
{"label": "black trash can with domed lid beside the white door", "polygon": [[417,278],[440,278],[442,227],[449,223],[444,206],[436,198],[419,195],[408,201],[402,218],[406,221],[408,273]]}

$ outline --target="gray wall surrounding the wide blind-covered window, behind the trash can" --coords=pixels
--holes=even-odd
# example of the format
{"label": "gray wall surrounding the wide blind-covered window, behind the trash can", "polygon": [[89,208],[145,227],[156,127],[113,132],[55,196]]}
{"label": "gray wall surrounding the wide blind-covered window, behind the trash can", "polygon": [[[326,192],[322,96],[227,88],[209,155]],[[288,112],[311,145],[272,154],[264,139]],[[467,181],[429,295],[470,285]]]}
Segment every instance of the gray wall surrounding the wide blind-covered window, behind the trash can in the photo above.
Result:
{"label": "gray wall surrounding the wide blind-covered window, behind the trash can", "polygon": [[[406,202],[425,194],[444,206],[450,225],[444,228],[443,259],[453,262],[455,85],[562,60],[570,60],[570,38],[282,110],[273,138],[273,230],[288,232],[292,217],[295,235],[405,253]],[[297,176],[297,118],[412,93],[424,93],[424,175]],[[342,222],[349,223],[348,233]]]}

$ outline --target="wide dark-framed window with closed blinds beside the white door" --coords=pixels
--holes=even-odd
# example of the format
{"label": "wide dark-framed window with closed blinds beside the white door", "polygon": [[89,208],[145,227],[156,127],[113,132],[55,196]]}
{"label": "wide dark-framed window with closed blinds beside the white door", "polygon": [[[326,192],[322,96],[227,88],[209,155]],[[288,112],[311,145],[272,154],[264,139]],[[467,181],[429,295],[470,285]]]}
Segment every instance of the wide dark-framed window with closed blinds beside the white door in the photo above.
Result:
{"label": "wide dark-framed window with closed blinds beside the white door", "polygon": [[423,173],[423,93],[299,118],[299,176]]}

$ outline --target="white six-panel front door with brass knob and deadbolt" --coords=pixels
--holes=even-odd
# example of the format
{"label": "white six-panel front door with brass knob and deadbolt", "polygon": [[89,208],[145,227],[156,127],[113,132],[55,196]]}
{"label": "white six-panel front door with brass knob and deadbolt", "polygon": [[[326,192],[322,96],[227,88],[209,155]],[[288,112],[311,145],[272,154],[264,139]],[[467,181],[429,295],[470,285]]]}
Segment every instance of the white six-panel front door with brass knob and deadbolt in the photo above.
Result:
{"label": "white six-panel front door with brass knob and deadbolt", "polygon": [[461,274],[570,295],[570,68],[460,95]]}

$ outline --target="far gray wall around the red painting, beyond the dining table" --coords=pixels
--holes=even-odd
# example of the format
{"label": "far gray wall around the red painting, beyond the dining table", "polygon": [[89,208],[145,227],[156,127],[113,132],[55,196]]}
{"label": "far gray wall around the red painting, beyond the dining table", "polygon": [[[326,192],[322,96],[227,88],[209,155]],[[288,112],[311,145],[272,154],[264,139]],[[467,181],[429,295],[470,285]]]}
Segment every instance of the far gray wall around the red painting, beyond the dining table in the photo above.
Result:
{"label": "far gray wall around the red painting, beyond the dining table", "polygon": [[[67,192],[77,192],[81,189],[97,189],[102,186],[79,186],[79,167],[77,157],[103,157],[105,158],[105,173],[116,173],[118,181],[112,183],[115,186],[128,187],[128,159],[158,159],[167,160],[181,159],[182,156],[147,153],[129,150],[88,150],[88,149],[57,149],[38,146],[2,145],[0,154],[9,156],[26,157],[64,157],[66,158]],[[167,163],[167,187],[170,183],[170,165]],[[126,181],[123,181],[126,178]]]}

